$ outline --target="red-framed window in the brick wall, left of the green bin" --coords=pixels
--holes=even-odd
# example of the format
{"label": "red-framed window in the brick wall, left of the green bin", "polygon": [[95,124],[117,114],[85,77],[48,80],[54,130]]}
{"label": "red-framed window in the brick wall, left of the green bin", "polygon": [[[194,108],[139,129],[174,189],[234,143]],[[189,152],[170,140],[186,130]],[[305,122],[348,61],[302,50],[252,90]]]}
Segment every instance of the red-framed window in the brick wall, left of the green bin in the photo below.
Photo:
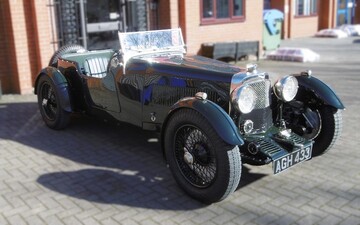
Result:
{"label": "red-framed window in the brick wall, left of the green bin", "polygon": [[201,0],[202,24],[244,20],[244,0]]}

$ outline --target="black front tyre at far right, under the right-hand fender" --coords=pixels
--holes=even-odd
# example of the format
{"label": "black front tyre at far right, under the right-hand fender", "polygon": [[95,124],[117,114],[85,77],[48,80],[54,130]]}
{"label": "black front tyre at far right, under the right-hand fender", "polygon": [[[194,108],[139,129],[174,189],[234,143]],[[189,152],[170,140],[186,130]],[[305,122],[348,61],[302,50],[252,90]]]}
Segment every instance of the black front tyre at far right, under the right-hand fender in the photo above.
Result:
{"label": "black front tyre at far right, under the right-hand fender", "polygon": [[323,107],[319,110],[320,131],[313,139],[315,141],[312,156],[316,157],[327,152],[340,137],[342,131],[341,110]]}

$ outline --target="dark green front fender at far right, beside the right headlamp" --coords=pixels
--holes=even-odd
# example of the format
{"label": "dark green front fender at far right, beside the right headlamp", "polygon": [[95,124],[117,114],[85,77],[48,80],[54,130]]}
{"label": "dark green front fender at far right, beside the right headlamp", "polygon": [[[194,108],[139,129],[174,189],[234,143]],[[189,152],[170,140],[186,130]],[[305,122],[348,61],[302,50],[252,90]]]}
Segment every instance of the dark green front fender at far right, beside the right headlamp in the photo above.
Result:
{"label": "dark green front fender at far right, beside the right headlamp", "polygon": [[345,109],[340,98],[321,80],[309,75],[297,75],[295,77],[297,78],[300,87],[304,87],[307,91],[314,93],[315,96],[321,99],[325,104],[337,109]]}

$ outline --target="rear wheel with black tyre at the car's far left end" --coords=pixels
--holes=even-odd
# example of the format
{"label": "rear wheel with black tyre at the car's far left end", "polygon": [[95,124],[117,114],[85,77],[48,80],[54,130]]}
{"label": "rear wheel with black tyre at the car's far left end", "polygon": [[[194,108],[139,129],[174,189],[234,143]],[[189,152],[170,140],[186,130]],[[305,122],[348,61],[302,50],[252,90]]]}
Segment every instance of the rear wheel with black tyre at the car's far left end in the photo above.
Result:
{"label": "rear wheel with black tyre at the car's far left end", "polygon": [[65,128],[70,121],[70,113],[61,108],[57,87],[43,75],[37,86],[38,105],[45,124],[55,130]]}

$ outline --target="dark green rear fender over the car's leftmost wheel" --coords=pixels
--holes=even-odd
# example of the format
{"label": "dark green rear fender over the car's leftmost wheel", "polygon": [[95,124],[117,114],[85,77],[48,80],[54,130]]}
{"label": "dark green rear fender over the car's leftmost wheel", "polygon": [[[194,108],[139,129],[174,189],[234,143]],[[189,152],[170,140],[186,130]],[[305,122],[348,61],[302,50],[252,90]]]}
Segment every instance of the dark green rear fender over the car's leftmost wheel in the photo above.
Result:
{"label": "dark green rear fender over the car's leftmost wheel", "polygon": [[66,112],[72,112],[69,85],[65,76],[59,70],[51,66],[42,69],[35,81],[35,94],[37,94],[38,83],[41,76],[48,76],[52,80],[54,86],[56,87],[55,91],[59,96],[61,108]]}

